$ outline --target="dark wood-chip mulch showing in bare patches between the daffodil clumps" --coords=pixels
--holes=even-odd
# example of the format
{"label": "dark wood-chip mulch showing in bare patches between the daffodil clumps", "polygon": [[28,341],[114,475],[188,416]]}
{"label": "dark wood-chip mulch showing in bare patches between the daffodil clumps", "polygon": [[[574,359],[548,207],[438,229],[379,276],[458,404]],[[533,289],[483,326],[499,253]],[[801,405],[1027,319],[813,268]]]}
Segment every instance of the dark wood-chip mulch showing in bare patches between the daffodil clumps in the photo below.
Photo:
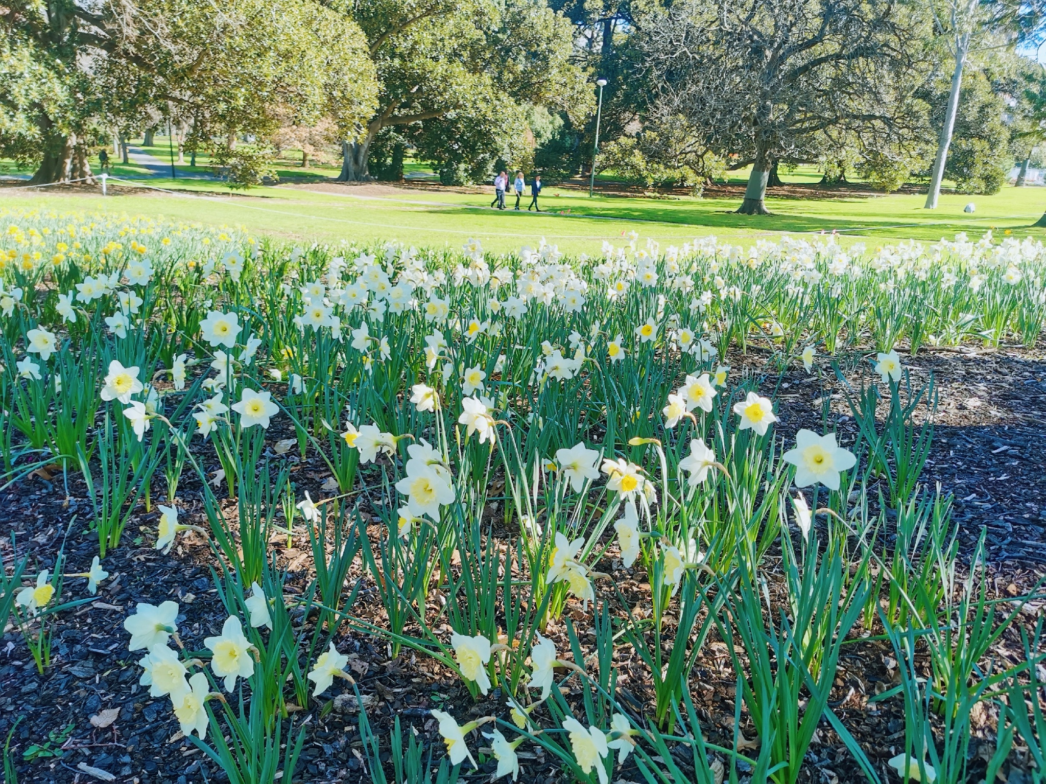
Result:
{"label": "dark wood-chip mulch showing in bare patches between the daffodil clumps", "polygon": [[[764,360],[765,355],[758,351],[731,358],[733,373],[746,370],[764,373]],[[965,554],[981,528],[987,527],[986,566],[993,576],[994,595],[1014,596],[1026,591],[1046,573],[1043,353],[1019,349],[969,353],[920,351],[916,358],[904,360],[916,379],[926,378],[932,371],[940,395],[934,449],[924,480],[940,482],[946,493],[954,494]],[[855,366],[864,369],[855,372]],[[846,377],[855,379],[862,372],[867,374],[868,367],[867,362],[863,365],[854,362]],[[761,388],[769,392],[775,386],[780,433],[791,439],[801,426],[821,428],[822,406],[817,401],[831,395],[832,416],[841,440],[844,444],[851,442],[856,428],[842,396],[845,386],[831,368],[822,365],[815,374],[806,374],[801,368],[790,369],[781,377],[765,378]],[[274,442],[288,435],[293,434],[285,432],[274,420],[268,438]],[[213,453],[207,454],[210,466],[214,462]],[[291,456],[283,459],[297,460]],[[320,486],[327,474],[318,461],[296,464],[293,478],[299,494],[308,489],[314,499],[323,497]],[[195,501],[199,498],[199,486],[194,485],[187,472],[182,485],[179,493],[185,506],[182,522],[202,522],[200,502]],[[159,500],[154,498],[154,504]],[[65,540],[67,573],[87,570],[97,552],[97,540],[86,530],[90,504],[78,475],[68,477],[68,487],[61,474],[50,481],[41,476],[24,480],[6,491],[0,506],[3,530],[16,534],[19,555],[29,552],[40,568],[49,568]],[[203,638],[217,633],[224,620],[209,573],[212,555],[205,540],[192,532],[182,534],[174,550],[163,555],[152,549],[157,517],[155,507],[151,512],[139,507],[123,544],[105,560],[111,576],[103,584],[98,601],[66,613],[55,624],[51,665],[43,675],[37,673],[17,632],[8,631],[0,641],[0,734],[5,737],[14,721],[23,717],[12,741],[20,781],[91,781],[77,769],[81,763],[108,770],[118,781],[127,782],[182,784],[224,780],[202,753],[180,737],[168,698],[152,699],[147,688],[138,685],[140,668],[135,663],[141,652],[127,650],[128,635],[122,623],[137,602],[158,604],[166,599],[177,600],[184,614],[179,618],[180,633],[189,648],[202,647]],[[377,518],[371,522],[377,524]],[[377,537],[377,527],[371,529],[371,535]],[[274,536],[272,544],[291,571],[288,590],[299,589],[308,577],[311,559],[308,536],[296,533],[290,548],[286,536]],[[4,562],[9,564],[9,538],[0,540],[0,548]],[[768,568],[772,570],[774,562],[771,555]],[[358,566],[354,567],[354,576],[359,575]],[[626,573],[619,566],[608,560],[600,569],[613,573],[617,589],[630,602],[649,602],[645,578]],[[596,590],[600,591],[598,582]],[[604,585],[602,591],[607,590]],[[84,580],[70,579],[66,597],[83,595]],[[380,618],[373,592],[361,593],[356,612]],[[591,609],[582,614],[579,606],[571,604],[567,613],[577,621],[583,642],[591,644]],[[1027,614],[1019,620],[1031,623]],[[565,624],[550,624],[548,635],[564,655],[568,650]],[[368,715],[380,735],[387,732],[392,717],[399,716],[405,725],[420,734],[427,745],[436,744],[434,756],[438,758],[441,750],[435,722],[428,716],[430,709],[447,708],[462,722],[488,713],[503,715],[504,699],[500,694],[495,692],[488,699],[473,704],[459,682],[431,661],[415,658],[409,651],[392,660],[383,643],[353,633],[344,635],[338,647],[350,654],[353,674],[361,691],[372,697]],[[1005,636],[995,653],[1015,661],[1019,653],[1016,636]],[[626,646],[619,649],[615,666],[622,697],[640,701],[652,697],[638,659]],[[887,644],[859,642],[845,649],[832,695],[835,710],[881,770],[885,760],[903,748],[903,711],[900,698],[872,706],[865,700],[889,688],[895,683],[895,675]],[[729,744],[734,673],[725,646],[714,635],[703,650],[691,687],[709,740]],[[347,693],[350,693],[348,687],[336,682],[319,700],[310,702],[306,712],[297,714],[299,720],[308,717],[311,727],[299,780],[369,780],[361,762],[358,716],[349,702],[336,699]],[[332,699],[335,710],[321,716],[320,707]],[[92,727],[91,716],[113,708],[119,709],[119,714],[110,727]],[[61,757],[23,761],[23,752],[30,744],[43,743],[49,732],[61,731],[70,723],[72,730],[61,746]],[[981,758],[992,750],[992,724],[988,709],[978,717],[975,728],[973,748]],[[743,732],[748,738],[755,735],[750,722]],[[478,741],[475,735],[470,737],[473,750],[481,745]],[[520,751],[522,781],[569,780],[537,746],[524,745]],[[467,780],[486,781],[493,769],[494,763],[487,762],[482,773],[468,776]],[[638,781],[641,777],[635,769],[627,768],[618,771],[616,778]],[[808,755],[803,780],[831,783],[862,779],[839,738],[823,723]]]}

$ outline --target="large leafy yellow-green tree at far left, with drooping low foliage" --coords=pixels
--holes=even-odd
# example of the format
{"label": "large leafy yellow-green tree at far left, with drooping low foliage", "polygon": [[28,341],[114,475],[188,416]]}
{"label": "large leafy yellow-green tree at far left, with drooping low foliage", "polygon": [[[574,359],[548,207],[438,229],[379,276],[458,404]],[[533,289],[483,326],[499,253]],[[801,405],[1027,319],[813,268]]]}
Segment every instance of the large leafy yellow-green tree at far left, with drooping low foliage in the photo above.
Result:
{"label": "large leafy yellow-green tree at far left, with drooping low foliage", "polygon": [[349,126],[377,92],[359,27],[314,0],[4,0],[0,28],[0,85],[20,85],[0,96],[0,152],[36,182],[89,177],[99,121],[159,112],[209,140],[272,133],[291,107]]}

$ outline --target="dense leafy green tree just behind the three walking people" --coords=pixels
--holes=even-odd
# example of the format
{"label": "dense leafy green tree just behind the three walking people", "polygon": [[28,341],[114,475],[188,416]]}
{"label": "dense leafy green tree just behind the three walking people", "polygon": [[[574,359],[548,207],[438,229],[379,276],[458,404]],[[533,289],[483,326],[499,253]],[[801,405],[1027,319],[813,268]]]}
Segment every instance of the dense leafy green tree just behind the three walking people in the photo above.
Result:
{"label": "dense leafy green tree just behind the three walking people", "polygon": [[575,114],[591,105],[570,62],[571,25],[541,0],[360,0],[342,9],[367,36],[380,93],[377,111],[345,135],[339,180],[369,179],[384,129],[427,144],[431,159],[481,159],[504,147],[499,134],[524,132],[529,105]]}

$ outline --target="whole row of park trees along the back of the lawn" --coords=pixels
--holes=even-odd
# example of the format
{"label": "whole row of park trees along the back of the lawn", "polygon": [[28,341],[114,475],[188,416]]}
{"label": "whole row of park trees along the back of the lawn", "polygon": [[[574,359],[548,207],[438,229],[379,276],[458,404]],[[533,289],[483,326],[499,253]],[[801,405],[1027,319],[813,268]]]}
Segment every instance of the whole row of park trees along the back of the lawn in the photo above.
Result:
{"label": "whole row of park trees along the back of the lawn", "polygon": [[[826,184],[995,192],[1040,162],[1046,0],[0,0],[0,157],[90,178],[143,130],[250,184],[283,148],[340,180],[598,170],[695,192],[799,163]],[[245,141],[249,140],[249,141]]]}

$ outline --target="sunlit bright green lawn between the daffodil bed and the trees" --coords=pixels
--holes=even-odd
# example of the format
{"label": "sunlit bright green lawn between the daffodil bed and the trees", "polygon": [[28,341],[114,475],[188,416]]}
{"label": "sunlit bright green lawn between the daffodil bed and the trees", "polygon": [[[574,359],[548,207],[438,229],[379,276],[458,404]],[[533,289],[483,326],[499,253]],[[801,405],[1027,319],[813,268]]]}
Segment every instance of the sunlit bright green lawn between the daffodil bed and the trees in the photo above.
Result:
{"label": "sunlit bright green lawn between the daffodil bed and the trees", "polygon": [[[178,194],[103,199],[48,194],[46,190],[8,191],[8,195],[0,189],[0,207],[32,204],[56,210],[159,213],[184,221],[244,225],[251,232],[295,241],[394,238],[418,246],[458,247],[475,236],[494,251],[536,245],[544,236],[564,251],[598,253],[601,240],[621,244],[623,235],[632,230],[644,238],[677,245],[707,234],[751,241],[780,233],[801,235],[822,230],[838,230],[848,238],[872,245],[908,237],[933,241],[942,236],[951,238],[959,231],[976,237],[988,229],[996,230],[999,236],[1009,231],[1019,237],[1046,238],[1046,231],[1033,228],[1046,209],[1043,188],[1006,187],[993,197],[946,193],[934,211],[922,208],[925,197],[920,194],[801,200],[771,195],[767,204],[773,215],[747,216],[731,213],[740,201],[735,198],[596,194],[589,199],[587,190],[559,186],[545,188],[541,201],[546,211],[539,215],[488,209],[493,193],[487,189],[461,193],[435,188],[387,188],[380,195],[368,195],[354,186],[338,186],[336,193],[276,186],[230,195],[219,182],[152,180],[149,184],[178,189]],[[974,214],[962,211],[969,202],[977,206]],[[513,203],[510,200],[509,207]]]}

